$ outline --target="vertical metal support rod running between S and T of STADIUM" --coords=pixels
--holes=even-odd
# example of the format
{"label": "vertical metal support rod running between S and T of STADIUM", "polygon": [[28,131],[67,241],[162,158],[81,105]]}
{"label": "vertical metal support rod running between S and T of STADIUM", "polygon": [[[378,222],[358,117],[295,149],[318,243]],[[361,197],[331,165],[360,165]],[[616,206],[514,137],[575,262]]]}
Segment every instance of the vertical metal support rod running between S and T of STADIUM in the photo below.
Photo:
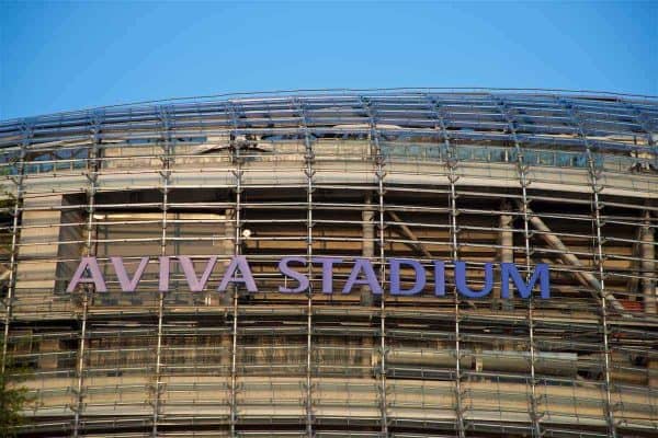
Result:
{"label": "vertical metal support rod running between S and T of STADIUM", "polygon": [[313,351],[313,168],[315,154],[313,143],[308,134],[308,124],[304,105],[298,101],[297,107],[302,118],[302,129],[304,130],[304,174],[306,175],[306,267],[308,276],[307,308],[306,308],[306,435],[313,438],[313,381],[311,381],[311,351]]}

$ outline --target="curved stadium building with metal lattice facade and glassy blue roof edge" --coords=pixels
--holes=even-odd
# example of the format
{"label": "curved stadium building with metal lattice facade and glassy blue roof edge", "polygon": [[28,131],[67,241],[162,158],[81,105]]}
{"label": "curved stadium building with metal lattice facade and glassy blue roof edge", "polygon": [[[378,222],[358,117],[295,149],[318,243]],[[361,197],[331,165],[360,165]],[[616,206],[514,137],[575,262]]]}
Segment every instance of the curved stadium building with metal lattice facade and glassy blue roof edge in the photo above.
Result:
{"label": "curved stadium building with metal lattice facade and glassy blue roof edge", "polygon": [[543,90],[1,122],[16,431],[655,437],[657,142],[657,97]]}

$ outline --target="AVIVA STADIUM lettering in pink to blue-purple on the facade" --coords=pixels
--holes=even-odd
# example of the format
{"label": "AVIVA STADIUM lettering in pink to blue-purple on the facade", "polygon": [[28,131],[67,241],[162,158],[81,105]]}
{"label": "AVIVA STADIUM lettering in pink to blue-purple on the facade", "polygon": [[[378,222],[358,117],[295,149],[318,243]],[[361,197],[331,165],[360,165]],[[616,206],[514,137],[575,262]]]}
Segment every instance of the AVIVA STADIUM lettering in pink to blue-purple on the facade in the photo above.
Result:
{"label": "AVIVA STADIUM lettering in pink to blue-purple on the facade", "polygon": [[[194,268],[192,258],[185,255],[178,256],[162,256],[158,257],[159,270],[158,270],[158,289],[161,292],[169,291],[170,285],[170,272],[172,262],[178,262],[181,267],[190,291],[201,292],[205,289],[206,284],[211,277],[213,268],[217,264],[217,256],[208,257],[205,268],[201,274],[197,275]],[[151,262],[151,257],[141,257],[139,266],[135,273],[131,276],[126,269],[126,266],[122,257],[110,257],[111,264],[114,268],[114,274],[118,280],[118,285],[124,292],[134,292],[147,265]],[[279,272],[288,278],[296,281],[296,287],[280,286],[279,291],[282,293],[300,293],[308,289],[309,279],[306,274],[299,270],[299,267],[306,266],[307,260],[305,257],[283,257],[279,261]],[[313,257],[313,264],[321,265],[322,267],[322,293],[334,293],[333,290],[333,267],[340,265],[343,261],[339,257]],[[428,276],[426,267],[417,260],[411,258],[388,258],[388,292],[393,296],[413,296],[424,290],[427,285]],[[293,265],[297,265],[295,268]],[[402,288],[400,280],[400,270],[402,268],[413,269],[415,281],[413,286]],[[433,285],[434,295],[438,297],[445,296],[445,262],[433,261]],[[494,289],[495,275],[494,275],[494,263],[485,263],[484,265],[484,286],[479,290],[472,289],[466,283],[466,263],[457,261],[454,263],[454,279],[457,291],[467,298],[483,298],[488,296]],[[500,263],[497,272],[500,275],[500,296],[502,298],[510,298],[510,283],[512,283],[522,298],[530,298],[533,289],[538,284],[540,297],[547,299],[551,297],[549,286],[549,270],[548,265],[537,264],[532,275],[529,276],[529,280],[525,281],[517,265],[513,263]],[[73,277],[71,278],[67,292],[76,290],[78,285],[91,284],[94,285],[98,292],[106,292],[107,287],[105,277],[99,266],[97,257],[89,256],[82,257]],[[226,267],[222,280],[217,286],[217,291],[224,292],[229,285],[236,285],[245,287],[249,292],[258,292],[253,274],[249,266],[249,262],[245,256],[235,256],[230,260],[230,263]],[[384,292],[382,284],[377,279],[375,269],[367,258],[354,258],[352,270],[345,283],[344,287],[340,291],[341,293],[350,293],[354,287],[367,287],[374,295],[382,295]]]}

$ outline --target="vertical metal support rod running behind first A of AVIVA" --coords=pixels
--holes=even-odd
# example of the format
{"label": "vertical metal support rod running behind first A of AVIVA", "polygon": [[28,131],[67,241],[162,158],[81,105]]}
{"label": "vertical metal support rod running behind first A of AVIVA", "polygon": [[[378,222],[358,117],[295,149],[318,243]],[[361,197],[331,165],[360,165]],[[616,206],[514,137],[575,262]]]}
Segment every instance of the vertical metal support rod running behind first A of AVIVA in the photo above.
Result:
{"label": "vertical metal support rod running behind first A of AVIVA", "polygon": [[[101,117],[95,114],[93,116],[93,124],[91,128],[91,141],[92,147],[89,152],[89,160],[87,166],[87,226],[86,226],[86,242],[84,242],[84,254],[91,256],[95,253],[94,251],[94,220],[93,215],[95,211],[95,193],[97,183],[99,176],[99,143],[100,143],[100,131],[101,131]],[[73,438],[77,438],[80,434],[80,416],[84,410],[84,355],[87,348],[87,320],[89,314],[89,304],[93,300],[94,289],[86,285],[83,288],[82,296],[82,325],[80,327],[80,346],[78,349],[78,365],[77,365],[77,378],[78,385],[76,389],[77,401],[73,416]]]}

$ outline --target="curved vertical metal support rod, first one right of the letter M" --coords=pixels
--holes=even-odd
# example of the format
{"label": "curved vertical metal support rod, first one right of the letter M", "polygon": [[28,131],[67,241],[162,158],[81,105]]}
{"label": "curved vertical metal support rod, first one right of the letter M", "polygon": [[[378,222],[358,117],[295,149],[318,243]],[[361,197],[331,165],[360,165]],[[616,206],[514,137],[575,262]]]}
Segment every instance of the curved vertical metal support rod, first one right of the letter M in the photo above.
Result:
{"label": "curved vertical metal support rod, first one right of the letter M", "polygon": [[610,373],[610,357],[611,357],[610,356],[610,343],[609,343],[610,335],[609,335],[609,330],[608,330],[608,291],[605,290],[605,270],[603,267],[603,256],[604,256],[603,255],[603,238],[601,234],[601,228],[603,227],[603,219],[601,218],[601,210],[603,209],[603,205],[601,204],[601,201],[599,199],[599,194],[603,189],[603,186],[599,183],[601,170],[597,168],[593,152],[590,148],[587,135],[585,134],[582,124],[580,123],[580,120],[578,118],[578,114],[577,114],[576,110],[574,108],[571,103],[567,102],[564,99],[560,99],[560,103],[565,107],[565,110],[569,113],[569,116],[571,117],[571,123],[577,127],[578,135],[579,135],[580,139],[582,140],[582,143],[585,146],[585,151],[587,153],[590,186],[591,186],[591,191],[592,191],[591,208],[592,208],[593,222],[594,222],[594,228],[595,228],[593,256],[594,256],[594,265],[598,270],[599,284],[601,285],[599,302],[601,306],[601,325],[602,325],[602,330],[603,330],[603,376],[604,376],[604,382],[603,382],[604,388],[603,389],[605,391],[604,412],[605,412],[605,419],[608,423],[608,435],[612,438],[616,438],[617,433],[616,433],[616,425],[615,425],[614,413],[613,413],[612,395],[610,392],[611,388],[612,388],[612,383],[611,383],[611,373]]}

